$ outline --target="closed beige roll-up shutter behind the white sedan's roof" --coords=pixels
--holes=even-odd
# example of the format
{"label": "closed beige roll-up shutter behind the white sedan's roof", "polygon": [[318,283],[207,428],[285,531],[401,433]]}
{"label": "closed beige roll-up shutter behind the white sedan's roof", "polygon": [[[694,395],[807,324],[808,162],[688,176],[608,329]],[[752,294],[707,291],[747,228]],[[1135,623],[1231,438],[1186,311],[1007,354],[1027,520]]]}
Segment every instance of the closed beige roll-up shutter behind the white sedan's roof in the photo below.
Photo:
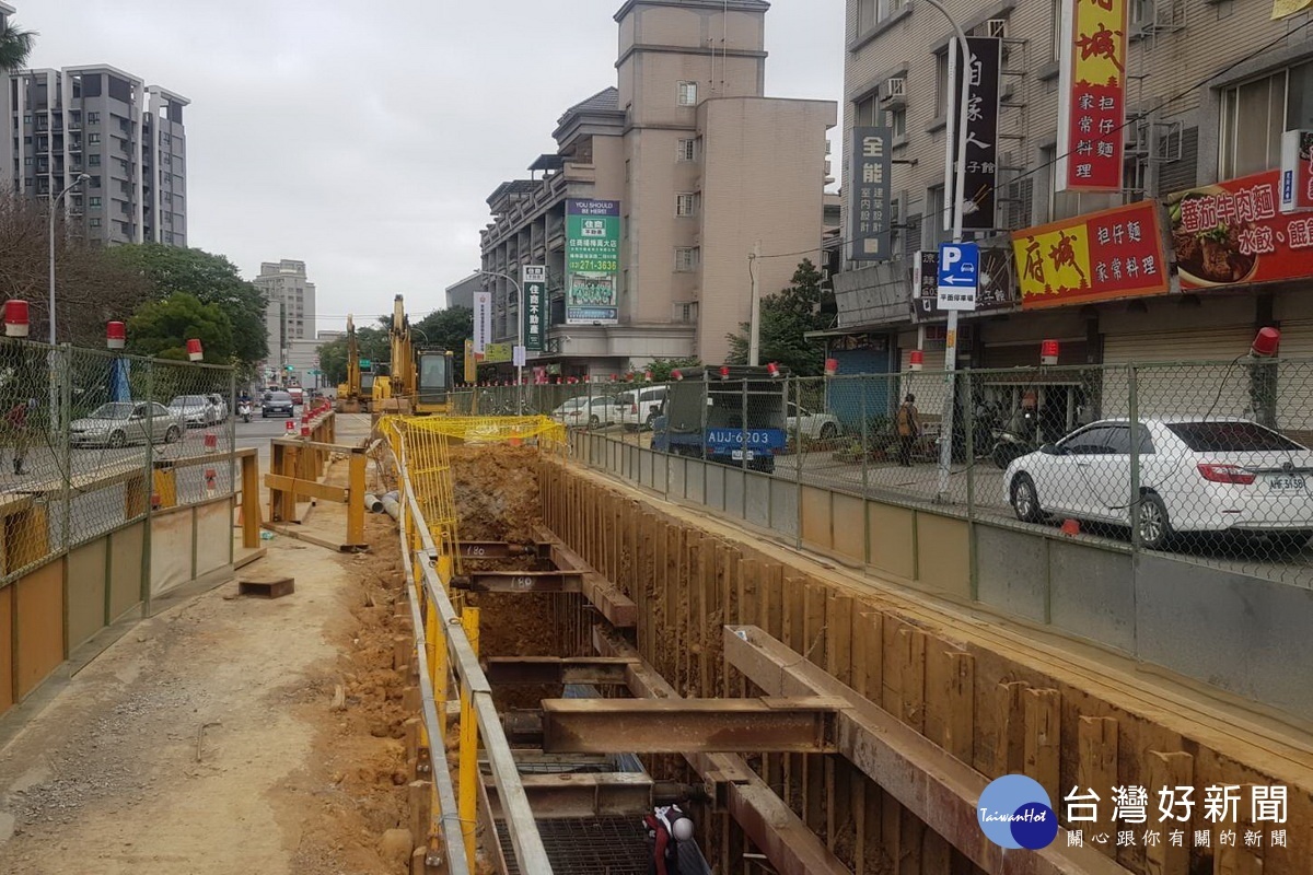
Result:
{"label": "closed beige roll-up shutter behind the white sedan's roof", "polygon": [[1247,374],[1229,362],[1246,354],[1253,340],[1251,325],[1106,336],[1102,415],[1129,413],[1125,365],[1133,362],[1141,417],[1251,417]]}

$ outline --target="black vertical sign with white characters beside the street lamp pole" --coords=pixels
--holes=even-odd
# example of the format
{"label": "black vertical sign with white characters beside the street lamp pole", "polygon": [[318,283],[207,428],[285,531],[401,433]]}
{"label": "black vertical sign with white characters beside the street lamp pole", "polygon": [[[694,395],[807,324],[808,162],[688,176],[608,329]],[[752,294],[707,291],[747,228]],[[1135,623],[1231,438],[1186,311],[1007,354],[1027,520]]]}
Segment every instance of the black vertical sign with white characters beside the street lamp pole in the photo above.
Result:
{"label": "black vertical sign with white characters beside the street lamp pole", "polygon": [[[995,220],[995,186],[998,185],[998,104],[1003,75],[1003,41],[998,37],[968,37],[972,52],[970,93],[966,101],[966,178],[962,188],[962,230],[993,231]],[[961,49],[955,37],[949,45],[948,67],[953,87],[948,98],[948,167],[957,164],[957,122],[962,96]],[[957,177],[944,195],[944,230],[952,230],[948,206],[957,192]]]}

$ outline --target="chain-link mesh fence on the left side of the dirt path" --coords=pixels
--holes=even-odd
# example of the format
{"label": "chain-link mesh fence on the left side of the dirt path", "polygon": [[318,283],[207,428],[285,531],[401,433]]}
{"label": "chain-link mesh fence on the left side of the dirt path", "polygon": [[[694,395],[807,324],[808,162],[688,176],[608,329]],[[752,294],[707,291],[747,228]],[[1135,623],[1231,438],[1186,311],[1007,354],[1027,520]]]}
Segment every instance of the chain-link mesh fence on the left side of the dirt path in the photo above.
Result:
{"label": "chain-link mesh fence on the left side of the dirt path", "polygon": [[152,508],[231,495],[232,379],[228,367],[0,340],[0,575]]}

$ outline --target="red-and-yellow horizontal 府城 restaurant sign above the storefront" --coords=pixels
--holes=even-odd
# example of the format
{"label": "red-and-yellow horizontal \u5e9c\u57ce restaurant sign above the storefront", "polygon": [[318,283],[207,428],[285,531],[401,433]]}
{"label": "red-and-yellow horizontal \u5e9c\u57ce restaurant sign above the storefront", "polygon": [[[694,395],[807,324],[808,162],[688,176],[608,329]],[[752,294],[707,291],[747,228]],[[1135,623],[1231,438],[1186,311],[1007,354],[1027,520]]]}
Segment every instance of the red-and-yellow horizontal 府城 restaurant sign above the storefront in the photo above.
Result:
{"label": "red-and-yellow horizontal \u5e9c\u57ce restaurant sign above the storefront", "polygon": [[1154,201],[1016,231],[1012,252],[1023,310],[1167,291]]}

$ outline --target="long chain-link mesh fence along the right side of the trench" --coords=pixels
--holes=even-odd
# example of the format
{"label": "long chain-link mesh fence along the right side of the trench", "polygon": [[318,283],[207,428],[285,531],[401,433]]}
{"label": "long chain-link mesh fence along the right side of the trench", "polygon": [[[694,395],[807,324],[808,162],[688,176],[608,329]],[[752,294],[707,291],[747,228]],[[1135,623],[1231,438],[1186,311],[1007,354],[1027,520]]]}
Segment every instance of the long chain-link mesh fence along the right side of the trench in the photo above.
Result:
{"label": "long chain-link mesh fence along the right side of the trench", "polygon": [[[949,397],[952,436],[941,429]],[[832,378],[699,370],[671,383],[488,386],[458,401],[462,412],[523,408],[658,453],[1313,586],[1313,361]]]}

